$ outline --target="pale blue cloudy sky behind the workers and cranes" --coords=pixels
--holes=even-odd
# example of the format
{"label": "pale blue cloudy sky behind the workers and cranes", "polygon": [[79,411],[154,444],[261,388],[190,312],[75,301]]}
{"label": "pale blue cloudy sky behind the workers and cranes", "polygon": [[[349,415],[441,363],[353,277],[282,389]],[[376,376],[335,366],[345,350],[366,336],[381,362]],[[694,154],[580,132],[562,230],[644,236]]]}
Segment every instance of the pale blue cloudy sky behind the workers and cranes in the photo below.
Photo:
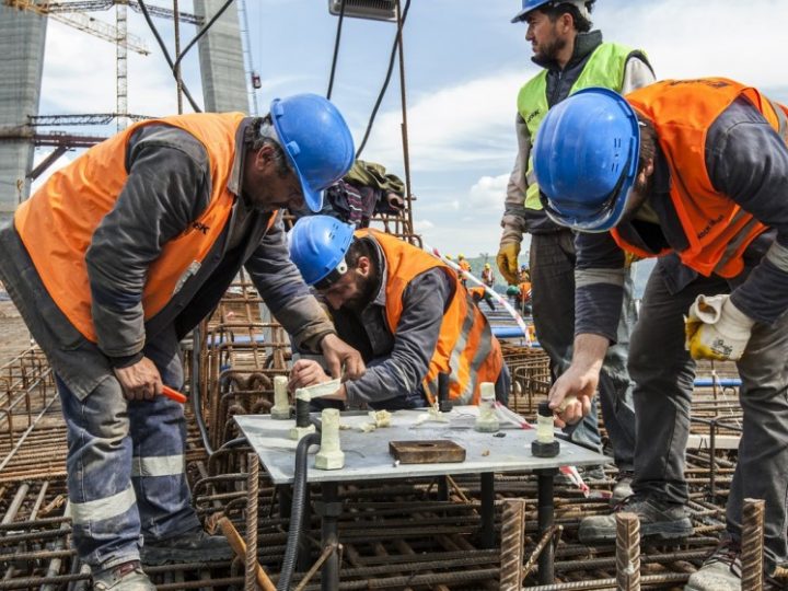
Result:
{"label": "pale blue cloudy sky behind the workers and cranes", "polygon": [[[165,0],[155,2],[169,5]],[[327,0],[245,0],[250,55],[263,82],[256,91],[259,114],[277,96],[326,93],[337,25],[327,4]],[[517,93],[538,72],[530,59],[525,25],[509,22],[520,5],[519,0],[410,3],[404,69],[415,229],[425,243],[447,253],[495,255],[498,250],[506,184],[517,153]],[[188,0],[181,0],[179,8],[192,10]],[[94,16],[114,21],[113,11]],[[594,28],[606,40],[645,49],[658,79],[725,76],[788,103],[786,0],[598,0],[592,16]],[[172,53],[172,23],[155,22]],[[129,53],[129,112],[176,113],[172,74],[144,21],[131,11],[129,31],[151,49],[146,57]],[[194,33],[193,26],[182,25],[182,46]],[[332,100],[357,146],[382,86],[395,34],[392,23],[344,21]],[[184,61],[184,79],[199,97],[196,49]],[[40,114],[113,111],[113,45],[50,22]],[[402,120],[395,65],[361,158],[404,177]],[[76,155],[69,153],[58,165]]]}

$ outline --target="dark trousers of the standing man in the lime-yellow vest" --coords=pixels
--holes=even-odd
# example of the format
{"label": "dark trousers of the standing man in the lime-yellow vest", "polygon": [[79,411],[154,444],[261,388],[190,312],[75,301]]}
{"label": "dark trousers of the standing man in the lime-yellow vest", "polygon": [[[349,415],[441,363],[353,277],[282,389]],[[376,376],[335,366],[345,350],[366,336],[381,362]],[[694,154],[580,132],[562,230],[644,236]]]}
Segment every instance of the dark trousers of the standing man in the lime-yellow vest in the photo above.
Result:
{"label": "dark trousers of the standing man in the lime-yellow vest", "polygon": [[[575,234],[563,229],[531,235],[531,303],[536,338],[551,358],[554,378],[571,364],[575,343]],[[617,344],[607,350],[599,383],[599,401],[610,436],[613,457],[621,471],[633,470],[635,453],[635,410],[633,383],[627,373],[629,334],[635,324],[633,283],[625,285]],[[601,450],[596,398],[591,413],[565,430],[571,441]]]}

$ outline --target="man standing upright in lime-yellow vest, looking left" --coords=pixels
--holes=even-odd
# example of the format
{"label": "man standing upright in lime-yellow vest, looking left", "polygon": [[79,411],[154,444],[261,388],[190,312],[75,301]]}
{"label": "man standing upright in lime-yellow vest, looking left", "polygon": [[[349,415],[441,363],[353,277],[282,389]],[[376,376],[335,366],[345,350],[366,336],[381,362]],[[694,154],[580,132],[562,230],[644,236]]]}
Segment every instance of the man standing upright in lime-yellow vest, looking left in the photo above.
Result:
{"label": "man standing upright in lime-yellow vest, looking left", "polygon": [[[513,23],[525,22],[525,40],[532,60],[544,68],[528,81],[518,95],[517,136],[519,153],[507,189],[503,232],[498,268],[511,285],[518,285],[518,255],[524,232],[531,234],[529,266],[533,279],[533,317],[536,335],[551,358],[554,376],[569,367],[575,336],[575,235],[553,223],[542,210],[534,182],[531,146],[548,108],[580,89],[595,85],[628,91],[653,81],[646,56],[616,43],[603,43],[602,33],[591,31],[592,1],[523,0]],[[627,341],[635,312],[631,279],[627,277],[626,312],[622,315],[618,345],[611,347],[600,381],[599,398],[610,436],[617,483],[612,501],[631,493],[635,417],[631,382],[626,370]],[[595,412],[568,429],[577,443],[601,451]],[[600,467],[588,470],[591,478],[604,477]]]}

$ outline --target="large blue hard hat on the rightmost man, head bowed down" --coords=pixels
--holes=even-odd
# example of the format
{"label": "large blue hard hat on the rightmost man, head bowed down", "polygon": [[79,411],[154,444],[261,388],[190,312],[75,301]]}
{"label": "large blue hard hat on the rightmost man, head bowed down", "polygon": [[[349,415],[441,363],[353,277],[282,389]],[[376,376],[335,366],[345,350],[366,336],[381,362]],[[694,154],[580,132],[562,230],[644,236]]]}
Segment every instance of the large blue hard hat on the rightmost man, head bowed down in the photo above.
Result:
{"label": "large blue hard hat on the rightmost man, head bowed down", "polygon": [[533,166],[545,212],[581,232],[606,232],[635,184],[640,129],[635,109],[609,89],[581,90],[547,112]]}

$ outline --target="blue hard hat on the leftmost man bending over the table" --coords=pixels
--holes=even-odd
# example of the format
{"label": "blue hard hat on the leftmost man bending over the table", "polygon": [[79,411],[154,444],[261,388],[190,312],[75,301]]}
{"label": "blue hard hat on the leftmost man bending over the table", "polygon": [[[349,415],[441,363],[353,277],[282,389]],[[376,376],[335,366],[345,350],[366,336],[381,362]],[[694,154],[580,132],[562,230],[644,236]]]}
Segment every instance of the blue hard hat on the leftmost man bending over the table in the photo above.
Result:
{"label": "blue hard hat on the leftmost man bending over the table", "polygon": [[320,211],[322,190],[345,176],[354,162],[356,149],[345,119],[317,94],[274,99],[270,114],[306,206]]}

